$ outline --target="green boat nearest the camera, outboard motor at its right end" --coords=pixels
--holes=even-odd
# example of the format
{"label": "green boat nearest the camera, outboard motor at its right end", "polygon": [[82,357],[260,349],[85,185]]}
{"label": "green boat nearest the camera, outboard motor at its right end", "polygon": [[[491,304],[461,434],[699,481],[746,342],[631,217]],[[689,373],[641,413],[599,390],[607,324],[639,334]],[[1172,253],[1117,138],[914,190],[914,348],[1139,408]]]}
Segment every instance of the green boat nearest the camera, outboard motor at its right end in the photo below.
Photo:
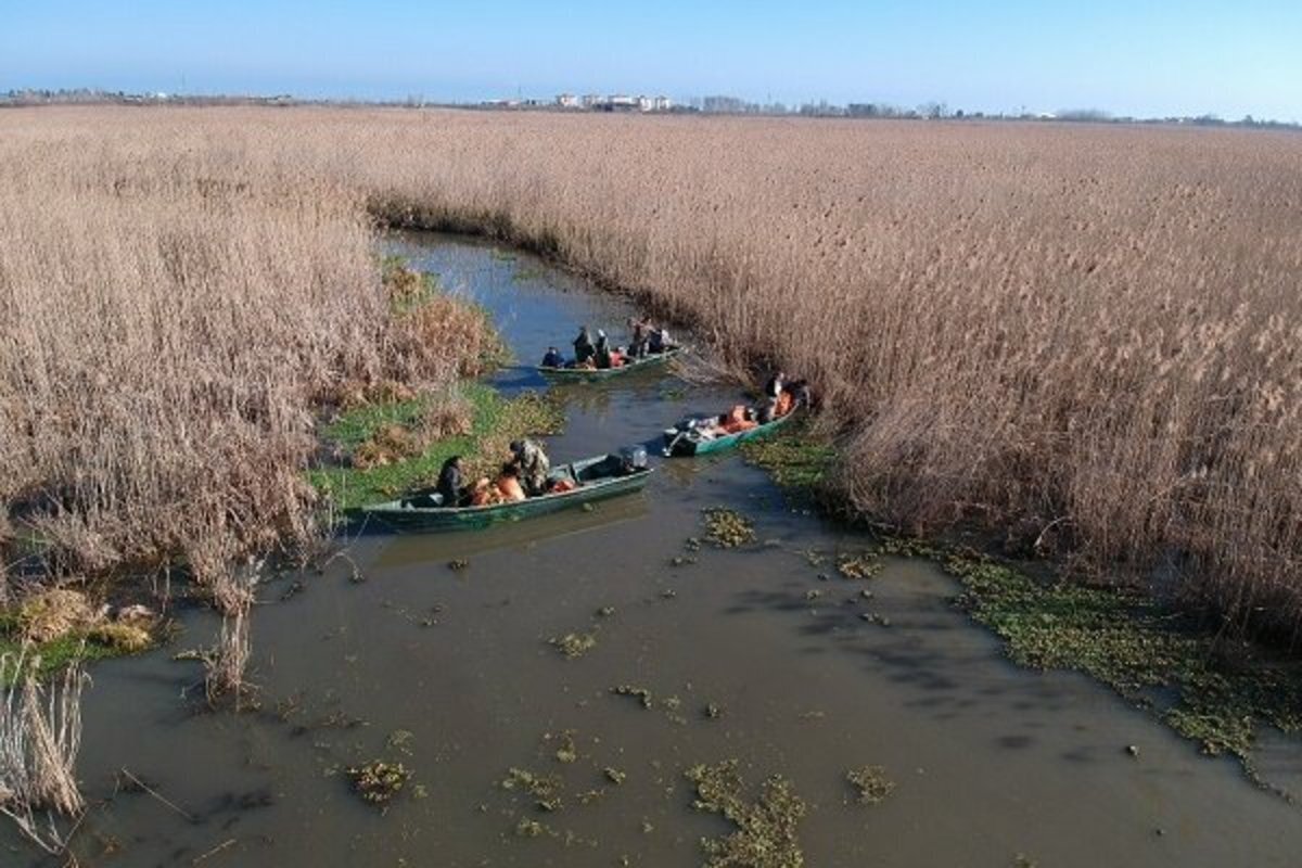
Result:
{"label": "green boat nearest the camera, outboard motor at its right end", "polygon": [[440,505],[439,495],[417,492],[398,500],[363,506],[358,511],[363,517],[375,518],[396,530],[479,530],[499,522],[518,522],[641,491],[650,475],[648,467],[625,471],[620,455],[596,455],[553,468],[551,479],[578,483],[578,488],[557,495],[530,497],[517,504],[447,508]]}

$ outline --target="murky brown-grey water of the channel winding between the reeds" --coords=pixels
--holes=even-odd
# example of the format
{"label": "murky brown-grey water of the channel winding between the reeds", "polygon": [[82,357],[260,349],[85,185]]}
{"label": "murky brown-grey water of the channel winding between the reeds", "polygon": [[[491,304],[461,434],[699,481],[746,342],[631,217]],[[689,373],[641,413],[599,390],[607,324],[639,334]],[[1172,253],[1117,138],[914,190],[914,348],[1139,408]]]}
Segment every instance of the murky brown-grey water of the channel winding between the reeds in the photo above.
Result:
{"label": "murky brown-grey water of the channel winding between the reeds", "polygon": [[[487,306],[526,363],[630,312],[523,254],[440,237],[392,246]],[[522,368],[497,384],[544,387]],[[736,400],[654,371],[559,392],[560,461]],[[687,552],[717,505],[754,519],[759,544]],[[178,647],[94,669],[79,770],[102,802],[78,833],[81,864],[690,868],[699,839],[730,828],[693,809],[684,769],[733,757],[755,785],[793,782],[815,867],[1298,863],[1302,809],[1082,677],[1012,666],[931,565],[888,561],[852,582],[805,554],[865,545],[793,513],[737,457],[661,462],[643,495],[590,513],[363,535],[350,556],[365,582],[336,561],[297,576],[298,592],[296,576],[262,588],[260,711],[203,711],[198,666],[172,661],[208,642],[208,614],[185,617]],[[596,644],[568,660],[548,644],[568,632]],[[611,692],[621,685],[650,691],[652,708]],[[566,731],[578,756],[561,763],[562,739],[547,735]],[[418,785],[385,813],[344,774],[374,757]],[[846,782],[865,765],[896,783],[881,804],[855,803]],[[124,766],[171,804],[116,786]],[[513,766],[560,776],[561,808],[504,790]],[[521,820],[546,830],[518,834]],[[40,864],[3,834],[4,864]]]}

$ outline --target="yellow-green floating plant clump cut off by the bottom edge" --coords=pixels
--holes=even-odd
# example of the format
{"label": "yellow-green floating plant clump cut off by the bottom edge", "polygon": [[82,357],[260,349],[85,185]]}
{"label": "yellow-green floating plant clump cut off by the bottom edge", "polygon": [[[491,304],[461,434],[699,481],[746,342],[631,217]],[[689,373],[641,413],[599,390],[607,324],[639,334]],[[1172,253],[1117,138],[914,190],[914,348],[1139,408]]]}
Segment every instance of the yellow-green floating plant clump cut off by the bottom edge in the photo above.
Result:
{"label": "yellow-green floating plant clump cut off by the bottom edge", "polygon": [[693,807],[721,815],[737,828],[725,837],[702,838],[706,868],[801,868],[805,854],[796,833],[806,813],[803,799],[781,776],[769,777],[758,798],[747,799],[737,766],[737,760],[724,760],[685,773],[697,790]]}

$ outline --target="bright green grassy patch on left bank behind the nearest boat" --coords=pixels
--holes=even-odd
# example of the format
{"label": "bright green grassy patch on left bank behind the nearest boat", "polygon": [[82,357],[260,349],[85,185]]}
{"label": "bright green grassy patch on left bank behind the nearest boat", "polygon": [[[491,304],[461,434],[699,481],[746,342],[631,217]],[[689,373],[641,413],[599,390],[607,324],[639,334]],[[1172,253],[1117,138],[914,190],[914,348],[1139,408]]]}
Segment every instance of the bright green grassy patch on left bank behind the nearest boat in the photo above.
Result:
{"label": "bright green grassy patch on left bank behind the nearest boat", "polygon": [[[421,454],[395,463],[367,468],[326,467],[311,471],[309,479],[339,509],[357,509],[435,484],[443,462],[452,455],[466,459],[469,475],[487,474],[506,461],[506,445],[512,440],[556,433],[564,424],[559,406],[538,393],[526,392],[508,400],[482,383],[464,383],[460,390],[471,407],[469,433],[439,440]],[[418,426],[430,402],[431,398],[415,398],[352,410],[327,426],[322,435],[352,457],[388,426]]]}

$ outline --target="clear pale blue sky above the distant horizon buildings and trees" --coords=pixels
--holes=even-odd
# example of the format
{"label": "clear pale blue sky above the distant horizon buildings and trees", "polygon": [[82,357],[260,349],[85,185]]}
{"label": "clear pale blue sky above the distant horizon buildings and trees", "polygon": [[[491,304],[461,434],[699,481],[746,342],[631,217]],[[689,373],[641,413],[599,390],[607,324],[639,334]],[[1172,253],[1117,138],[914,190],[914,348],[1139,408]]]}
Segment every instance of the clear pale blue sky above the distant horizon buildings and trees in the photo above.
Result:
{"label": "clear pale blue sky above the distant horizon buildings and trees", "polygon": [[945,102],[1302,121],[1302,0],[0,0],[21,87]]}

